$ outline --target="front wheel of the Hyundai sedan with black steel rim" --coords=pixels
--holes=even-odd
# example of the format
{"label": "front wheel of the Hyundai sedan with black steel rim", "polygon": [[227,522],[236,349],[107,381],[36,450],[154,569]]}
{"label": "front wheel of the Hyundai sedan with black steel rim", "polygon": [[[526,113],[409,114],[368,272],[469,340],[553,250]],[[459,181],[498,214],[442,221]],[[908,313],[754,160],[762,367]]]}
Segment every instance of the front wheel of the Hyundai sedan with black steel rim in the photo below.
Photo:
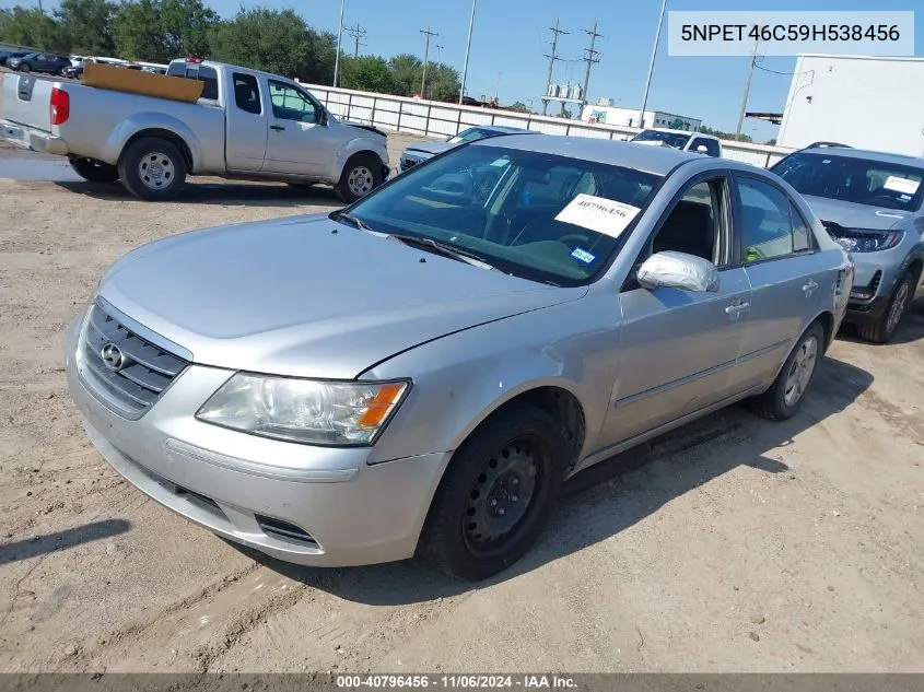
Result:
{"label": "front wheel of the Hyundai sedan with black steel rim", "polygon": [[549,520],[568,461],[561,425],[541,409],[521,404],[491,415],[453,455],[421,552],[457,579],[505,570]]}

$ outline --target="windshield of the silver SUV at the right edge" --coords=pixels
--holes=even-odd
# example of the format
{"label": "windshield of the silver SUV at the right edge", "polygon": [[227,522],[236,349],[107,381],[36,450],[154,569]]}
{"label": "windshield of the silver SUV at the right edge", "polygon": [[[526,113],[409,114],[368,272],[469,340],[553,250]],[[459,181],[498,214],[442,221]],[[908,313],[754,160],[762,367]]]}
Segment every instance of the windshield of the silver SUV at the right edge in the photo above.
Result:
{"label": "windshield of the silver SUV at the right edge", "polygon": [[914,211],[924,193],[924,168],[855,156],[790,154],[771,171],[803,195]]}

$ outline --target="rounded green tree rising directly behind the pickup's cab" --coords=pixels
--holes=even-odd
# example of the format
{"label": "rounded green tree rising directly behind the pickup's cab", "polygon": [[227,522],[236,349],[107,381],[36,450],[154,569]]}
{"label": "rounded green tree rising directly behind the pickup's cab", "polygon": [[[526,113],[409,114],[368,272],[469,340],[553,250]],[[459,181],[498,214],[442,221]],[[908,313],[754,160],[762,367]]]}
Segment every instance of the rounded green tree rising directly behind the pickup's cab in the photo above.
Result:
{"label": "rounded green tree rising directly behind the pickup's cab", "polygon": [[294,10],[239,10],[212,32],[211,57],[302,81],[329,84],[336,37],[305,24]]}

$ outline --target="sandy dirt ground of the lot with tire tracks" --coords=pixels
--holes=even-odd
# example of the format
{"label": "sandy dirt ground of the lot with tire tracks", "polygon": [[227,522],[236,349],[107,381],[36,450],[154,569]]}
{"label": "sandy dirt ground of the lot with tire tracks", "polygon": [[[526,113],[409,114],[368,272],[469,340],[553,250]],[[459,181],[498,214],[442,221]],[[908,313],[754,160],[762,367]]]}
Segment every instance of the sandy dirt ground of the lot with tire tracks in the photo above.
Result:
{"label": "sandy dirt ground of the lot with tire tracks", "polygon": [[[0,151],[4,175],[22,162]],[[478,587],[273,563],[120,481],[61,372],[102,270],[167,234],[335,204],[0,180],[0,670],[924,671],[920,307],[892,345],[842,336],[794,420],[733,408],[576,479],[537,549]]]}

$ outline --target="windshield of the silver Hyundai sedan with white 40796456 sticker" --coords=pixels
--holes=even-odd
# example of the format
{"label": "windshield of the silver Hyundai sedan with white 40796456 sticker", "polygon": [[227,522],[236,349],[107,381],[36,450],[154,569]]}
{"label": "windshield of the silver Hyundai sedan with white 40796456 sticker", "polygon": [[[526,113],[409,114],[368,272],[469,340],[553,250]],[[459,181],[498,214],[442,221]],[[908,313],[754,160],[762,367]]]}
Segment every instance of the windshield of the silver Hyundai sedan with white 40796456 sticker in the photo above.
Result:
{"label": "windshield of the silver Hyundai sedan with white 40796456 sticker", "polygon": [[[607,266],[659,180],[632,168],[469,144],[401,174],[350,213],[372,231],[436,241],[506,273],[581,285]],[[563,210],[569,222],[557,219]]]}

